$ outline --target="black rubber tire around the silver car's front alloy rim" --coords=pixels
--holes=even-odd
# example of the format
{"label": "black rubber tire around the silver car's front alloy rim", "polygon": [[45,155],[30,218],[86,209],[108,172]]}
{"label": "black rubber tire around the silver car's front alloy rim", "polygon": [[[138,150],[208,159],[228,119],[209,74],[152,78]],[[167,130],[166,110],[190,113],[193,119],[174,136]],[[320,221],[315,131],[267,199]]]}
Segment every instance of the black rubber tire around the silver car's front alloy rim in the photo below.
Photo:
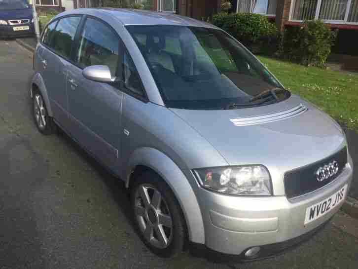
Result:
{"label": "black rubber tire around the silver car's front alloy rim", "polygon": [[[187,238],[187,229],[186,229],[186,223],[183,216],[183,213],[181,211],[181,208],[179,206],[178,200],[176,199],[174,193],[169,188],[169,186],[164,182],[164,180],[156,173],[150,170],[143,171],[142,173],[135,176],[133,179],[134,183],[131,187],[131,207],[133,211],[133,217],[134,217],[134,223],[136,225],[136,228],[138,230],[138,233],[144,242],[144,244],[156,255],[164,258],[174,257],[181,253],[184,249],[186,238]],[[137,215],[136,212],[136,206],[138,205],[138,192],[141,190],[140,188],[143,188],[144,186],[148,187],[150,190],[150,186],[155,188],[158,192],[160,192],[160,195],[162,196],[161,201],[164,200],[164,205],[161,202],[160,207],[163,209],[163,206],[166,206],[169,210],[169,212],[165,212],[167,215],[171,217],[171,228],[164,227],[165,225],[162,225],[163,230],[164,229],[171,229],[170,231],[170,240],[168,241],[168,245],[163,247],[157,247],[153,244],[153,240],[155,239],[155,235],[157,235],[157,231],[153,233],[153,240],[148,240],[144,236],[143,226],[141,222],[138,220],[138,218],[141,218],[139,215]],[[149,193],[149,191],[147,192]],[[153,198],[154,193],[152,194],[151,198]],[[150,194],[149,194],[150,196]],[[152,202],[153,200],[151,200]],[[150,203],[152,205],[152,203]],[[144,208],[144,207],[143,207]],[[150,218],[148,217],[150,214],[148,214],[148,211],[145,211],[146,217],[143,217],[143,219],[147,219],[146,225],[151,225]],[[160,212],[163,212],[161,210]],[[164,214],[164,213],[163,213]],[[158,215],[159,216],[159,215]],[[158,217],[157,223],[159,225],[160,218]],[[166,231],[167,234],[167,231]],[[157,235],[158,237],[158,235]],[[159,241],[159,240],[158,240]],[[165,245],[165,244],[164,244]]]}

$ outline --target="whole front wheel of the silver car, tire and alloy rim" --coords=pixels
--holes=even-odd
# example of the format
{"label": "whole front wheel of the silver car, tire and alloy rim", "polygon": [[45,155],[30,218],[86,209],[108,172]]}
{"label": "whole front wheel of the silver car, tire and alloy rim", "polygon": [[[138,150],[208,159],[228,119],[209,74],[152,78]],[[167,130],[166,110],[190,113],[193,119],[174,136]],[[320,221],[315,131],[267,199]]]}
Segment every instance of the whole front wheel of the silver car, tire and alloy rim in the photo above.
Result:
{"label": "whole front wheel of the silver car, tire and alloy rim", "polygon": [[161,257],[180,253],[185,220],[168,185],[154,172],[145,171],[136,177],[131,194],[135,223],[145,245]]}

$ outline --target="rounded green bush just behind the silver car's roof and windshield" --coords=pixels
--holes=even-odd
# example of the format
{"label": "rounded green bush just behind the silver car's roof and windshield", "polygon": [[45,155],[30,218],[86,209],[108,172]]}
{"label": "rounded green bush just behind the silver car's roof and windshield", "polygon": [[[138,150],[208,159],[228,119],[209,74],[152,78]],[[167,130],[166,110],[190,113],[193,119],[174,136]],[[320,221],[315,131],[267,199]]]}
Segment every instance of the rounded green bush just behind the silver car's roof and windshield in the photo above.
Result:
{"label": "rounded green bush just behind the silver car's roof and windshield", "polygon": [[267,54],[276,51],[279,31],[266,16],[221,12],[213,16],[213,24],[238,39],[253,53]]}

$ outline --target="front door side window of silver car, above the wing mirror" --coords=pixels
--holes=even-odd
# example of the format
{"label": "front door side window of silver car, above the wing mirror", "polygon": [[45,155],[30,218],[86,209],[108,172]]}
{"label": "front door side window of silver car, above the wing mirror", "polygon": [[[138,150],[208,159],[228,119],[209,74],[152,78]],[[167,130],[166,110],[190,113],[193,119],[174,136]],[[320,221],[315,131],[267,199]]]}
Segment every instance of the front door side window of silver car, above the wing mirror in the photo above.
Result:
{"label": "front door side window of silver car, above the wing mirror", "polygon": [[79,38],[76,56],[80,66],[106,65],[112,77],[116,77],[119,37],[109,26],[88,18]]}

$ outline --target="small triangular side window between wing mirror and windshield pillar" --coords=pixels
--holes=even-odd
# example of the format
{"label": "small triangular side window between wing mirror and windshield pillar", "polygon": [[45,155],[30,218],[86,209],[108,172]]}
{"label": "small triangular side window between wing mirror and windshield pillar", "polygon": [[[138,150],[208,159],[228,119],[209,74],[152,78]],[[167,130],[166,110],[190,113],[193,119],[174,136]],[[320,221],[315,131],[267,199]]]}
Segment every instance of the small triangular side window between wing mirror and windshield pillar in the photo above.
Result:
{"label": "small triangular side window between wing mirror and windshield pillar", "polygon": [[125,87],[136,95],[144,96],[141,78],[128,52],[124,53],[122,64]]}

